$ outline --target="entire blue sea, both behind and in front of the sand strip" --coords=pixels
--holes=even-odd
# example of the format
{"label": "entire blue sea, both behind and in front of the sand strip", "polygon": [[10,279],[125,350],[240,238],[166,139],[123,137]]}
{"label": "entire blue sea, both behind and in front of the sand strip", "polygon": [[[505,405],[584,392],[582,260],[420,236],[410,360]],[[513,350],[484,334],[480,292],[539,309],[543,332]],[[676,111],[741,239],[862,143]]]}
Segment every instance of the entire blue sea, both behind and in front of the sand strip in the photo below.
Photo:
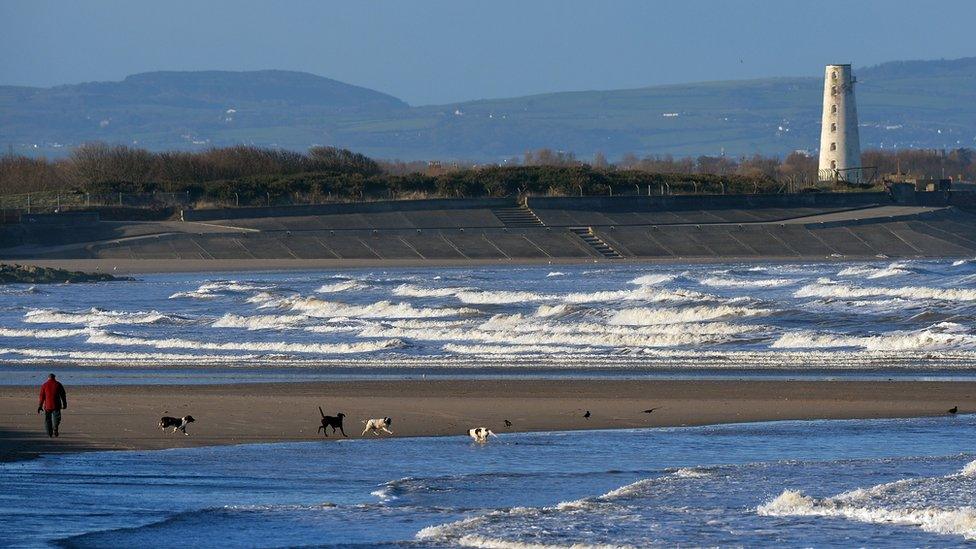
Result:
{"label": "entire blue sea, both behind and in front of the sand strip", "polygon": [[[976,260],[138,275],[0,288],[0,384],[976,379]],[[0,463],[0,547],[943,547],[976,416]]]}

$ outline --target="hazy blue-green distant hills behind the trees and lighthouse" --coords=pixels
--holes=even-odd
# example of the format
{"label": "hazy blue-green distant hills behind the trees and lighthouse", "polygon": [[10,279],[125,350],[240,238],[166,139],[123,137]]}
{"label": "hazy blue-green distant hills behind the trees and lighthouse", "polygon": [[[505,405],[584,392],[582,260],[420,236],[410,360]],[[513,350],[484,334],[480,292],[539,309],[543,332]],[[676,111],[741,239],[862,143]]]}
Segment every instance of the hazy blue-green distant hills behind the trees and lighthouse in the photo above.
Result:
{"label": "hazy blue-green distant hills behind the trees and lighthouse", "polygon": [[[854,72],[863,148],[976,146],[976,57]],[[33,154],[91,140],[157,150],[336,145],[380,158],[475,161],[543,147],[580,158],[782,155],[816,149],[821,87],[820,77],[772,78],[411,107],[298,72],[155,72],[0,87],[0,145]]]}

